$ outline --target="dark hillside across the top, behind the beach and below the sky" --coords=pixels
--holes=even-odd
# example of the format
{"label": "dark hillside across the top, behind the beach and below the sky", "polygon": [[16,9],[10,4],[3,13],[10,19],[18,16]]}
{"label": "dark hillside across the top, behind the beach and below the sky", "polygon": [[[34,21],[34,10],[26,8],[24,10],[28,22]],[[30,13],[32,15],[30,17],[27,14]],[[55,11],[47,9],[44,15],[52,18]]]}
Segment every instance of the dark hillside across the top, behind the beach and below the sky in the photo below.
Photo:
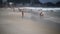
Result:
{"label": "dark hillside across the top, behind the beach and below the sky", "polygon": [[[44,6],[44,7],[60,7],[60,1],[56,2],[56,4],[52,3],[52,2],[46,2],[46,3],[42,3],[39,0],[7,0],[7,2],[13,2],[15,4],[32,4],[34,6]],[[2,4],[2,0],[0,0],[0,5]]]}

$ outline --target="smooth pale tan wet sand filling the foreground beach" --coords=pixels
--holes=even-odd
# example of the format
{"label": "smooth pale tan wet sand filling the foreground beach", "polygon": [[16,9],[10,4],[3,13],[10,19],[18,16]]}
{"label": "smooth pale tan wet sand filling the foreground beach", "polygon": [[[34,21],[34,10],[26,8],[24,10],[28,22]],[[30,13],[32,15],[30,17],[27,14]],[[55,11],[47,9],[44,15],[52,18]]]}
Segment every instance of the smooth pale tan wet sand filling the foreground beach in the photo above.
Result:
{"label": "smooth pale tan wet sand filling the foreground beach", "polygon": [[25,13],[22,19],[21,12],[5,12],[0,15],[0,34],[60,34],[60,24],[43,19],[38,22],[31,13]]}

